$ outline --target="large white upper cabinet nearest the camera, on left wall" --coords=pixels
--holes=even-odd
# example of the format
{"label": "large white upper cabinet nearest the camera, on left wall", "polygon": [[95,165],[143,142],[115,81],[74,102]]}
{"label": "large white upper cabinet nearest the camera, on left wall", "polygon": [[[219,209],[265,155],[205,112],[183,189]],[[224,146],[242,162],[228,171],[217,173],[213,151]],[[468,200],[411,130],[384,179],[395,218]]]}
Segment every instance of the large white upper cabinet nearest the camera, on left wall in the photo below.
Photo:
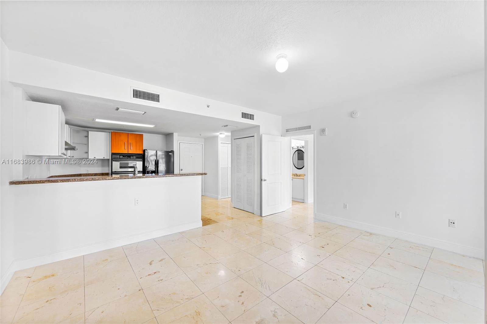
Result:
{"label": "large white upper cabinet nearest the camera, on left wall", "polygon": [[61,106],[25,101],[24,154],[66,157]]}

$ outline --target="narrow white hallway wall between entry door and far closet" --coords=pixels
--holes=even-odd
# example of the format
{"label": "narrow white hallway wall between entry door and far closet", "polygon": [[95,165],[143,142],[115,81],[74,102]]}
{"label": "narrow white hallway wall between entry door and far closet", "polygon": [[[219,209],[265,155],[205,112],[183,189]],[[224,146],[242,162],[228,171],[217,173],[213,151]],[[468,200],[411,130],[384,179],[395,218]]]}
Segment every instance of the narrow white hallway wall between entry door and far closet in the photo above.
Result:
{"label": "narrow white hallway wall between entry door and far closet", "polygon": [[205,139],[205,172],[207,173],[204,177],[205,196],[211,198],[218,198],[220,195],[218,182],[219,142],[218,136]]}

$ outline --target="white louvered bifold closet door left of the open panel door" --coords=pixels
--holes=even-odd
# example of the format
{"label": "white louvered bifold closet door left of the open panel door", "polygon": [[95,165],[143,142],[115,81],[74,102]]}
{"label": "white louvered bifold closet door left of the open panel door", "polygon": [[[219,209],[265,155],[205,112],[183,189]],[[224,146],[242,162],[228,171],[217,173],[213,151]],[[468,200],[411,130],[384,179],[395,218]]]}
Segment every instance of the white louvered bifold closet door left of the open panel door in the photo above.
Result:
{"label": "white louvered bifold closet door left of the open panel door", "polygon": [[254,213],[255,147],[254,137],[234,140],[235,185],[233,206]]}

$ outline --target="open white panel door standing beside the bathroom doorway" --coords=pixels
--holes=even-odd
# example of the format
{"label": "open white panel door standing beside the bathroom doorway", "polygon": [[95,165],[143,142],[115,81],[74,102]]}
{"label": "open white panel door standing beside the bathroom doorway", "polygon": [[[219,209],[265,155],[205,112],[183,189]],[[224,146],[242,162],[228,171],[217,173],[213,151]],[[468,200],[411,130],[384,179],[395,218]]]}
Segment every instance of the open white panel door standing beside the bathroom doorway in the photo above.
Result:
{"label": "open white panel door standing beside the bathroom doorway", "polygon": [[289,137],[262,135],[262,216],[283,212],[291,190]]}

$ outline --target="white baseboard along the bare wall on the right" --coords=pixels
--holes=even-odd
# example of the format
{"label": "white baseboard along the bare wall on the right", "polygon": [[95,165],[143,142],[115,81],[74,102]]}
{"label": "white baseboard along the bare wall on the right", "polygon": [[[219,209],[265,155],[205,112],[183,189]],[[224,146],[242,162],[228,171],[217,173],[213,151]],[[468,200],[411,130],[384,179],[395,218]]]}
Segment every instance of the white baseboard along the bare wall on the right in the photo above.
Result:
{"label": "white baseboard along the bare wall on the right", "polygon": [[386,236],[391,236],[391,237],[396,237],[400,238],[402,240],[418,243],[418,244],[423,244],[423,245],[428,245],[434,248],[438,249],[443,249],[451,252],[456,252],[468,256],[473,256],[479,259],[484,259],[484,251],[483,250],[478,250],[474,248],[470,248],[467,246],[463,245],[457,245],[453,243],[448,243],[445,241],[440,241],[431,237],[426,237],[426,236],[419,236],[411,233],[406,233],[406,232],[401,232],[401,231],[396,231],[392,230],[389,228],[385,227],[380,227],[380,226],[375,226],[367,223],[361,223],[357,222],[354,220],[349,220],[349,219],[344,219],[340,217],[335,217],[335,216],[329,216],[329,215],[324,215],[324,214],[315,214],[315,218],[318,220],[323,220],[327,221],[330,223],[335,223],[339,225],[344,225],[352,228],[356,228],[359,230],[367,231],[367,232],[372,232],[376,234],[381,234],[381,235],[386,235]]}

